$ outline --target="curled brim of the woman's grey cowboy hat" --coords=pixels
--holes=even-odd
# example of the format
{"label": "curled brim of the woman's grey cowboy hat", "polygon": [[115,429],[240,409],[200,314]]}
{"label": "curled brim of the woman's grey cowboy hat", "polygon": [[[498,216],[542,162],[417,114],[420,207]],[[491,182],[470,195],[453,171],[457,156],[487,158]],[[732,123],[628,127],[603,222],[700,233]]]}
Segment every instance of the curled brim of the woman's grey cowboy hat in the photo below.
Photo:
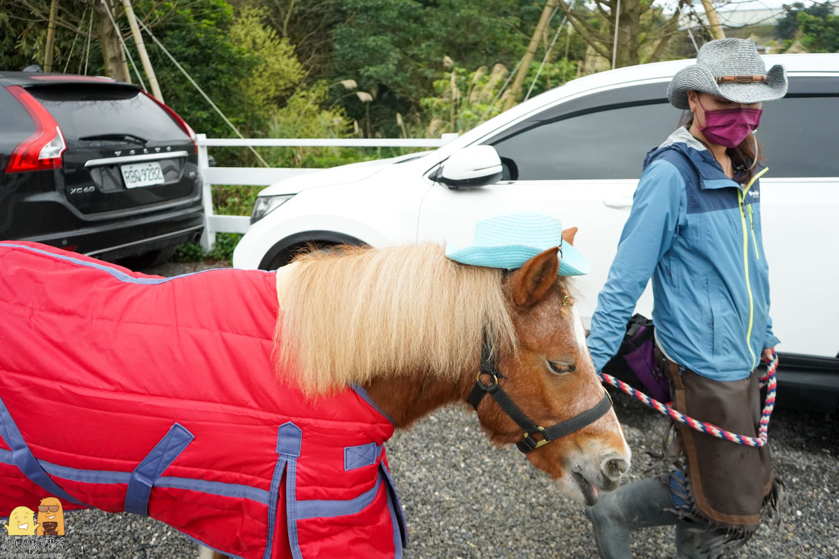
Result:
{"label": "curled brim of the woman's grey cowboy hat", "polygon": [[734,103],[760,103],[776,101],[786,95],[787,77],[782,65],[774,65],[766,73],[769,82],[755,82],[751,84],[717,84],[711,72],[701,65],[690,65],[682,68],[667,89],[670,104],[677,109],[690,110],[688,91],[701,91],[713,96],[722,97]]}

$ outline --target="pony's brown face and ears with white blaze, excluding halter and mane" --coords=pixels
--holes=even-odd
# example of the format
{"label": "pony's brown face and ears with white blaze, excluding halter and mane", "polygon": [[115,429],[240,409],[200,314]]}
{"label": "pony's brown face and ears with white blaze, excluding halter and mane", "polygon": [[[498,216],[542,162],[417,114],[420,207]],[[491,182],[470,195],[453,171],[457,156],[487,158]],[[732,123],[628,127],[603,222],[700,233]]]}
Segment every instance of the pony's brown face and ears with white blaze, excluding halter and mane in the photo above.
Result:
{"label": "pony's brown face and ears with white blaze, excluding halter and mane", "polygon": [[[576,228],[566,230],[565,241],[571,243],[575,233]],[[591,410],[604,397],[569,288],[571,280],[557,276],[557,252],[553,248],[534,256],[505,277],[517,346],[501,347],[496,363],[506,377],[498,384],[531,421],[549,430]],[[519,424],[492,398],[482,399],[477,415],[493,443],[519,443],[524,437]],[[615,489],[628,471],[630,450],[610,407],[594,422],[526,456],[565,494],[594,505],[599,490]]]}

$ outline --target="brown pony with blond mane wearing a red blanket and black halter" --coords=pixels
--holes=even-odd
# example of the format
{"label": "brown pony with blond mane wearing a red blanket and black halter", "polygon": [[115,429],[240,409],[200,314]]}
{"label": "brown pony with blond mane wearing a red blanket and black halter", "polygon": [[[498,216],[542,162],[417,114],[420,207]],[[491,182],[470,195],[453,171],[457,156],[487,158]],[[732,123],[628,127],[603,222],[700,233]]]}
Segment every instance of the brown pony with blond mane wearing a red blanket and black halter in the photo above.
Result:
{"label": "brown pony with blond mane wearing a red blanket and black halter", "polygon": [[[399,556],[383,443],[458,402],[593,505],[630,451],[558,269],[557,248],[503,271],[426,243],[159,278],[0,243],[0,515],[55,496],[154,516],[219,557]],[[79,347],[56,341],[69,326]],[[74,441],[28,419],[43,398]]]}

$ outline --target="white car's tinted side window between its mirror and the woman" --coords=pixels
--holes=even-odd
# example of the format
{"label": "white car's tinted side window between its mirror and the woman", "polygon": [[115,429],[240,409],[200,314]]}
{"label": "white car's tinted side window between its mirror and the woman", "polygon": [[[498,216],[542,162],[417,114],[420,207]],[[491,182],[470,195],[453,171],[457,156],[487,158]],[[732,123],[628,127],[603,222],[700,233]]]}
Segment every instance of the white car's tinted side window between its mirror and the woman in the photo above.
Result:
{"label": "white car's tinted side window between its mirror and the woman", "polygon": [[487,143],[515,164],[519,180],[638,179],[644,155],[664,142],[680,116],[666,101],[547,122],[537,116],[531,127]]}

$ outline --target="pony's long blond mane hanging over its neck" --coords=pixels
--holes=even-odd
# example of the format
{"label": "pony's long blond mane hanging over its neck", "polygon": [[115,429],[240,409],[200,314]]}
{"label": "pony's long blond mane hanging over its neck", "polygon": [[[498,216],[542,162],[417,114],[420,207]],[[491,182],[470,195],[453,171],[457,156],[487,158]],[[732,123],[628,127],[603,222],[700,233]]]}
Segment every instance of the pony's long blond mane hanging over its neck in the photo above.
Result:
{"label": "pony's long blond mane hanging over its neck", "polygon": [[278,274],[275,359],[310,395],[477,372],[485,333],[516,347],[503,272],[451,261],[437,244],[311,252]]}

